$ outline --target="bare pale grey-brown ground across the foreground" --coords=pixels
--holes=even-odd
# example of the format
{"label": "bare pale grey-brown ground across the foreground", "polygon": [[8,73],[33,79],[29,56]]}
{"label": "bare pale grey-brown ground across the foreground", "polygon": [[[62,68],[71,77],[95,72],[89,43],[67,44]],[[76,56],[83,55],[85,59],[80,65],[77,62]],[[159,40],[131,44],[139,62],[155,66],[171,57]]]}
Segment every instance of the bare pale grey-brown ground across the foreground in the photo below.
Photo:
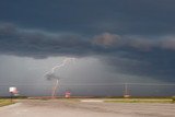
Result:
{"label": "bare pale grey-brown ground across the foreground", "polygon": [[175,117],[175,104],[23,100],[0,107],[0,117]]}

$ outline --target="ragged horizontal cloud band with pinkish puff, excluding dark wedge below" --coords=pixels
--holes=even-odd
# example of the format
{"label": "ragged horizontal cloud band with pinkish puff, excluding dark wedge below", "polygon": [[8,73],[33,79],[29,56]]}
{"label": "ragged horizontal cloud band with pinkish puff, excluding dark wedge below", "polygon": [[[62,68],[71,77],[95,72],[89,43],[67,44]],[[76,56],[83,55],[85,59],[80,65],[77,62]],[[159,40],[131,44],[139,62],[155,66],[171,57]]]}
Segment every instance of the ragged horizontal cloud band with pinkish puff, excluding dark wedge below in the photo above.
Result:
{"label": "ragged horizontal cloud band with pinkish puff, excluding dark wedge below", "polygon": [[92,37],[70,33],[26,30],[0,24],[0,52],[26,57],[116,55],[126,52],[174,51],[173,36],[148,38],[104,33]]}

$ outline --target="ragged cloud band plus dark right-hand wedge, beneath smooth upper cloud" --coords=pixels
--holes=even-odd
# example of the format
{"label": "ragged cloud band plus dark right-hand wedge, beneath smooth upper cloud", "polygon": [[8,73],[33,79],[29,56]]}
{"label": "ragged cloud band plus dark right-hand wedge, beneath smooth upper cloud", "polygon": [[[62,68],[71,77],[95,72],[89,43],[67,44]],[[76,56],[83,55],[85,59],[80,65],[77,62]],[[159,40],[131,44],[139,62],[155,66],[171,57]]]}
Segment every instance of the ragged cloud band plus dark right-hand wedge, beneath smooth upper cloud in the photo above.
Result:
{"label": "ragged cloud band plus dark right-hand wedge, beneath smooth upper cloud", "polygon": [[127,74],[174,81],[174,36],[141,37],[103,33],[92,37],[0,25],[0,54],[43,59],[95,56]]}

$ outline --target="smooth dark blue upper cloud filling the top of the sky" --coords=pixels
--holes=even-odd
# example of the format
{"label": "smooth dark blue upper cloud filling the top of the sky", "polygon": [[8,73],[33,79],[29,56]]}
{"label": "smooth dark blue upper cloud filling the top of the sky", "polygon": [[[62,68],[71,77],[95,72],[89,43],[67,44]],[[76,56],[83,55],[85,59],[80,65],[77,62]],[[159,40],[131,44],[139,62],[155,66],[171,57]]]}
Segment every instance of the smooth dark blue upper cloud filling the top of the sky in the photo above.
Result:
{"label": "smooth dark blue upper cloud filling the top of the sky", "polygon": [[84,35],[162,35],[175,33],[174,4],[174,0],[1,0],[0,20]]}

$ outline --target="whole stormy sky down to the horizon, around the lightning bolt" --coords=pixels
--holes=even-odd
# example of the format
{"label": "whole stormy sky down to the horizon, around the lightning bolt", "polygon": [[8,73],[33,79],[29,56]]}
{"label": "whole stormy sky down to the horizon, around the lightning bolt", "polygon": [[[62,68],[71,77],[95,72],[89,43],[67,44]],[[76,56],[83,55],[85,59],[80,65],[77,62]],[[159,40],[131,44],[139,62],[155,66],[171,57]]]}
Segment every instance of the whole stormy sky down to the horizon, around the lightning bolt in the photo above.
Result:
{"label": "whole stormy sky down to the horizon, around the lightning bolt", "polygon": [[[1,0],[0,95],[122,95],[175,83],[174,0]],[[52,77],[51,75],[51,77]],[[132,95],[174,95],[130,84]],[[150,92],[152,91],[152,92]]]}

